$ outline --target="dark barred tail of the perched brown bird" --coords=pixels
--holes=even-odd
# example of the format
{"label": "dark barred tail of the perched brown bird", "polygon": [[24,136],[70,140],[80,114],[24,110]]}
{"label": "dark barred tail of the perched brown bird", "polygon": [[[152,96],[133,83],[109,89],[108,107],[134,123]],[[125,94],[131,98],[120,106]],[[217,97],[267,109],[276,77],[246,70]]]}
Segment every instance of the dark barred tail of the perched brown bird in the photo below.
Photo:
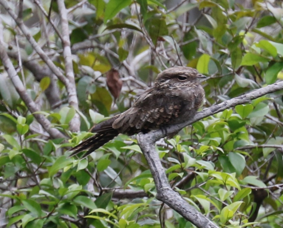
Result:
{"label": "dark barred tail of the perched brown bird", "polygon": [[87,155],[89,155],[91,152],[103,146],[108,141],[112,140],[118,134],[119,133],[114,129],[113,131],[109,131],[109,132],[98,132],[95,135],[83,141],[82,143],[80,143],[78,146],[74,147],[72,149],[73,152],[70,155],[70,157],[77,155],[78,153],[82,151],[87,151],[83,156],[84,158]]}

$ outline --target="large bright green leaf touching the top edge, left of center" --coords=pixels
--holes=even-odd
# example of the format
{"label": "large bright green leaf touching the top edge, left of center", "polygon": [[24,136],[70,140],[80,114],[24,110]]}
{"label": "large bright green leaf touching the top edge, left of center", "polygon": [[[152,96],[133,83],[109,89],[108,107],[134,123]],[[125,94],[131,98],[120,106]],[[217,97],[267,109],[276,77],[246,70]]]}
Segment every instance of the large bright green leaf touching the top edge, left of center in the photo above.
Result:
{"label": "large bright green leaf touching the top edge, left of center", "polygon": [[105,7],[104,23],[112,19],[120,10],[130,5],[131,2],[132,0],[110,0]]}

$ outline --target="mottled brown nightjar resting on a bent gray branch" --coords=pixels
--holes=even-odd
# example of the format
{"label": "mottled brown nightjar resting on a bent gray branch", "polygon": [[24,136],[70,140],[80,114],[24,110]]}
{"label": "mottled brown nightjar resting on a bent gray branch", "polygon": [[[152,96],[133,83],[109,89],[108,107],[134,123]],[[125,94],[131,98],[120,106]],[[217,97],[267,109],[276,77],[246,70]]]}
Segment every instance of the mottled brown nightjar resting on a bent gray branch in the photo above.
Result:
{"label": "mottled brown nightjar resting on a bent gray branch", "polygon": [[204,98],[201,78],[205,76],[191,67],[164,70],[157,76],[154,87],[141,94],[131,108],[94,126],[91,132],[96,134],[72,148],[71,156],[86,151],[83,156],[86,157],[119,133],[146,133],[190,120]]}

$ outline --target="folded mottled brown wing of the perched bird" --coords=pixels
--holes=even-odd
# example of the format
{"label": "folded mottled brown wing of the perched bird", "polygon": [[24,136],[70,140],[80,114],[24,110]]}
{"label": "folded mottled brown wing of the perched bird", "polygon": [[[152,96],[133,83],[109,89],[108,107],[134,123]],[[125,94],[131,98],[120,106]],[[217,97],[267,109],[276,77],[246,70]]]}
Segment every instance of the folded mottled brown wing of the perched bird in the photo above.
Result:
{"label": "folded mottled brown wing of the perched bird", "polygon": [[145,91],[132,108],[120,114],[113,122],[113,128],[129,135],[146,129],[155,129],[166,125],[172,118],[178,117],[183,102],[178,97],[166,96],[165,93]]}

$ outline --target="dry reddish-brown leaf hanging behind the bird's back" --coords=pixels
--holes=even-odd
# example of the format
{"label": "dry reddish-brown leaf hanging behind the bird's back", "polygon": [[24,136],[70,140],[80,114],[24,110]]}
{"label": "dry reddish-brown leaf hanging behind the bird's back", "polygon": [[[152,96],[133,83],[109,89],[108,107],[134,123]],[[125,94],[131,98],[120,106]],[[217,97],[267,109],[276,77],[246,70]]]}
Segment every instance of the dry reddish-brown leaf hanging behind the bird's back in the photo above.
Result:
{"label": "dry reddish-brown leaf hanging behind the bird's back", "polygon": [[106,83],[110,93],[114,96],[116,100],[122,88],[123,82],[120,79],[119,72],[117,70],[111,69],[106,73]]}

